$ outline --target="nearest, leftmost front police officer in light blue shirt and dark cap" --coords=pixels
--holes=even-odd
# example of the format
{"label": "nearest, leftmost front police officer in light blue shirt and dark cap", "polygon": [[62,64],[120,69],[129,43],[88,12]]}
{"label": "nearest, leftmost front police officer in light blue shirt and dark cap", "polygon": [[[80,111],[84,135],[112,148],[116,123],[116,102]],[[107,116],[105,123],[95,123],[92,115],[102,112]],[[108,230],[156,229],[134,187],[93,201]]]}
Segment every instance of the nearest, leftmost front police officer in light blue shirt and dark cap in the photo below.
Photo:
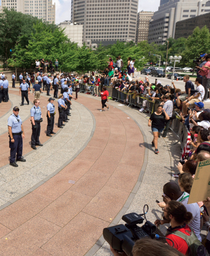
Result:
{"label": "nearest, leftmost front police officer in light blue shirt and dark cap", "polygon": [[13,108],[13,114],[8,118],[8,133],[10,137],[10,165],[18,167],[15,160],[20,162],[26,162],[26,160],[22,157],[25,133],[17,106]]}

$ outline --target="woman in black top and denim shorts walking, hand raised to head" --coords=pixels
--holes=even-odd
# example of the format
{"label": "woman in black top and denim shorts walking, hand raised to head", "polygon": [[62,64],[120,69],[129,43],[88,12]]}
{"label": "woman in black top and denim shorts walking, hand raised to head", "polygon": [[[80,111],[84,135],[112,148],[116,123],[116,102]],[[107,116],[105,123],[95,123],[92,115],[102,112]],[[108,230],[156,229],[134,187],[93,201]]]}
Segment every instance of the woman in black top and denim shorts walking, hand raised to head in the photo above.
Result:
{"label": "woman in black top and denim shorts walking, hand raised to head", "polygon": [[169,118],[169,115],[167,115],[162,105],[158,105],[157,111],[153,112],[149,118],[148,126],[152,126],[152,133],[154,136],[152,147],[155,147],[155,154],[159,153],[157,148],[158,136],[163,132],[165,120],[169,120]]}

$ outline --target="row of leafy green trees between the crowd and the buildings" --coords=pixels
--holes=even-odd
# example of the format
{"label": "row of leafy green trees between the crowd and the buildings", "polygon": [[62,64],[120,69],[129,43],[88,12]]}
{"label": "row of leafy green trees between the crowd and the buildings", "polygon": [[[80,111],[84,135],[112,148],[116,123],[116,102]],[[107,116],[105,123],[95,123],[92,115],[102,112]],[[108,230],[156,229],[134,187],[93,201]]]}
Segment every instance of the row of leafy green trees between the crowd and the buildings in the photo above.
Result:
{"label": "row of leafy green trees between the crowd and the buildings", "polygon": [[[117,41],[115,44],[97,49],[89,49],[85,44],[78,47],[77,43],[68,40],[64,31],[55,24],[44,23],[42,20],[27,14],[17,13],[14,10],[4,9],[0,14],[0,58],[10,67],[32,68],[35,59],[51,59],[54,63],[59,61],[59,68],[63,72],[76,71],[79,73],[91,70],[103,70],[107,67],[109,57],[116,62],[116,57],[121,56],[124,69],[127,68],[127,59],[135,58],[135,67],[142,69],[146,62],[157,63],[160,55],[161,61],[166,61],[168,46],[168,59],[172,55],[181,55],[179,66],[193,67],[193,59],[201,53],[210,52],[210,34],[205,26],[194,29],[188,38],[168,38],[163,45],[148,44],[141,41]],[[10,49],[12,52],[10,52]],[[151,55],[149,56],[149,52]]]}

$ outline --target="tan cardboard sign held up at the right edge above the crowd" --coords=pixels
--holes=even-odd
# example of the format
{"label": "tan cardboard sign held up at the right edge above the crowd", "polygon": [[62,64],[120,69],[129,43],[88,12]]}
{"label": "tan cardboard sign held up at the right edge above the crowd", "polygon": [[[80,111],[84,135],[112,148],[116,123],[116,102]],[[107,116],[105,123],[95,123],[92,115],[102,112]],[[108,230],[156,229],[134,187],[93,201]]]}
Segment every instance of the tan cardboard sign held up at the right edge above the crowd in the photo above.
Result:
{"label": "tan cardboard sign held up at the right edge above the crowd", "polygon": [[205,201],[207,197],[210,197],[210,159],[197,165],[188,204]]}

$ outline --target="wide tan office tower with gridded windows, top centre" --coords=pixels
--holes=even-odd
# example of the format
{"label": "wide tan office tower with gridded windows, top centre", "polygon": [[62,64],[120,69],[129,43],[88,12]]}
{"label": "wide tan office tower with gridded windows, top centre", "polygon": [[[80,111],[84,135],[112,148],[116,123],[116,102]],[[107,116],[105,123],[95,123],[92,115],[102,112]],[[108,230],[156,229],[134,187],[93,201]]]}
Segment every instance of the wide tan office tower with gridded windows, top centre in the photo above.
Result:
{"label": "wide tan office tower with gridded windows, top centre", "polygon": [[72,0],[71,21],[83,24],[83,41],[136,41],[137,0]]}

